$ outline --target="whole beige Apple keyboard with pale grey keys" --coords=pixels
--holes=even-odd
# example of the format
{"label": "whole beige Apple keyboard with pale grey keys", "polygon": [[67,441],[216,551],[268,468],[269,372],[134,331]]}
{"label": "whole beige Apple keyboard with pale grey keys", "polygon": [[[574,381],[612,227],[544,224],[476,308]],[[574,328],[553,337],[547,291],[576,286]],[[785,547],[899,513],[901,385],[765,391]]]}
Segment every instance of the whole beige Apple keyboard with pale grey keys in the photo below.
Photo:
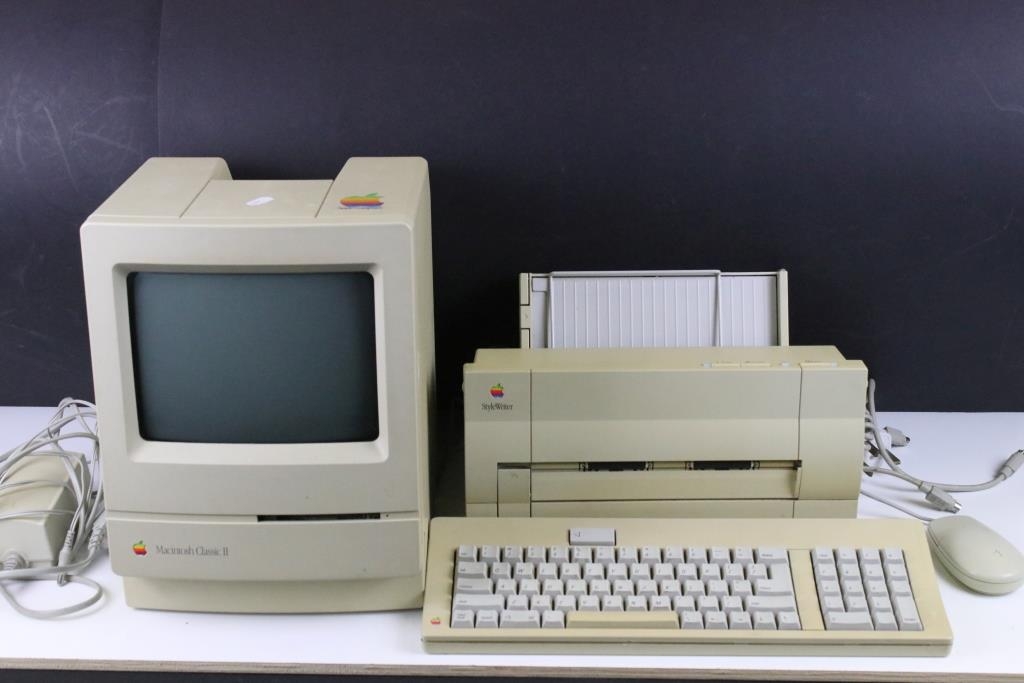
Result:
{"label": "whole beige Apple keyboard with pale grey keys", "polygon": [[925,537],[898,519],[436,518],[431,652],[941,655]]}

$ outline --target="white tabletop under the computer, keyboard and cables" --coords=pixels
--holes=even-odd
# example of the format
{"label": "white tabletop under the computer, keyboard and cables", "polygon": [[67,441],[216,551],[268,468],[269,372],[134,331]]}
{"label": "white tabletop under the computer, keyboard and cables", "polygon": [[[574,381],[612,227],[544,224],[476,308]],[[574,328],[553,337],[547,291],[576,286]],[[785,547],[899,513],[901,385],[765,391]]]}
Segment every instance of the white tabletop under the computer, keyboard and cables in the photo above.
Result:
{"label": "white tabletop under the computer, keyboard and cables", "polygon": [[[0,450],[38,430],[50,409],[0,409]],[[898,452],[904,467],[940,481],[989,479],[1011,453],[1024,447],[1024,414],[890,413],[911,444]],[[882,477],[876,477],[882,479]],[[916,505],[895,478],[871,490]],[[962,514],[979,518],[1024,548],[1024,474],[989,492],[957,496]],[[918,506],[923,513],[928,509]],[[861,498],[860,516],[902,517]],[[766,657],[427,654],[420,646],[418,610],[365,614],[239,615],[135,610],[124,603],[120,580],[101,557],[87,575],[105,590],[79,615],[36,621],[0,602],[0,668],[261,673],[476,676],[621,675],[672,678],[821,678],[1024,680],[1024,589],[987,597],[962,589],[943,570],[939,586],[954,639],[946,657]],[[18,588],[32,606],[71,600],[76,587],[40,583]]]}

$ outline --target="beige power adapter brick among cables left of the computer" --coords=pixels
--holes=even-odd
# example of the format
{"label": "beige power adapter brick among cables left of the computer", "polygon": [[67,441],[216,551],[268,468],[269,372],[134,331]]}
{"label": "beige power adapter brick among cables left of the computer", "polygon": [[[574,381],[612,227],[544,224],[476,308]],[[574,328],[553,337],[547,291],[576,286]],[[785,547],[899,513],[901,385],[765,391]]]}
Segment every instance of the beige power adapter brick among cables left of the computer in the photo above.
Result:
{"label": "beige power adapter brick among cables left of the computer", "polygon": [[[25,485],[7,487],[17,483]],[[65,461],[55,456],[26,456],[11,466],[4,484],[0,488],[0,559],[15,552],[30,566],[53,566],[76,508]],[[30,510],[48,514],[4,518]]]}

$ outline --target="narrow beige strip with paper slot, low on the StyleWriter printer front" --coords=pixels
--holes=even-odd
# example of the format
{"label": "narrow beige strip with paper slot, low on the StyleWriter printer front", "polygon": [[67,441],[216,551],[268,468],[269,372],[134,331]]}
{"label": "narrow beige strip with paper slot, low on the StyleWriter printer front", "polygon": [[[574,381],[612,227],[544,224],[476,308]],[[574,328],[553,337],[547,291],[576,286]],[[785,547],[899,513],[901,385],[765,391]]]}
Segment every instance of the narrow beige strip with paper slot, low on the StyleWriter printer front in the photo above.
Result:
{"label": "narrow beige strip with paper slot, low on the StyleWriter printer front", "polygon": [[[800,463],[733,461],[736,468],[695,467],[694,463],[642,463],[632,470],[534,466],[529,498],[544,501],[623,500],[793,500],[800,487]],[[674,465],[674,466],[672,466]],[[752,469],[752,466],[756,468]],[[499,493],[499,498],[501,498]]]}

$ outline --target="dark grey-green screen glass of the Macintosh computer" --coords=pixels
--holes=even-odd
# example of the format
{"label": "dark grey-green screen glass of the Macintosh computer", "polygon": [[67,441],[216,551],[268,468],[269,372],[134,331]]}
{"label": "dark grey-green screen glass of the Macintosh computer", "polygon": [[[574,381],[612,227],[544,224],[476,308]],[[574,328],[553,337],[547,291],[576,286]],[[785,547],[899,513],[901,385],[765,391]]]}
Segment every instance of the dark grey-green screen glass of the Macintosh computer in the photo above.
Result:
{"label": "dark grey-green screen glass of the Macintosh computer", "polygon": [[128,303],[142,438],[377,438],[370,273],[135,272]]}

